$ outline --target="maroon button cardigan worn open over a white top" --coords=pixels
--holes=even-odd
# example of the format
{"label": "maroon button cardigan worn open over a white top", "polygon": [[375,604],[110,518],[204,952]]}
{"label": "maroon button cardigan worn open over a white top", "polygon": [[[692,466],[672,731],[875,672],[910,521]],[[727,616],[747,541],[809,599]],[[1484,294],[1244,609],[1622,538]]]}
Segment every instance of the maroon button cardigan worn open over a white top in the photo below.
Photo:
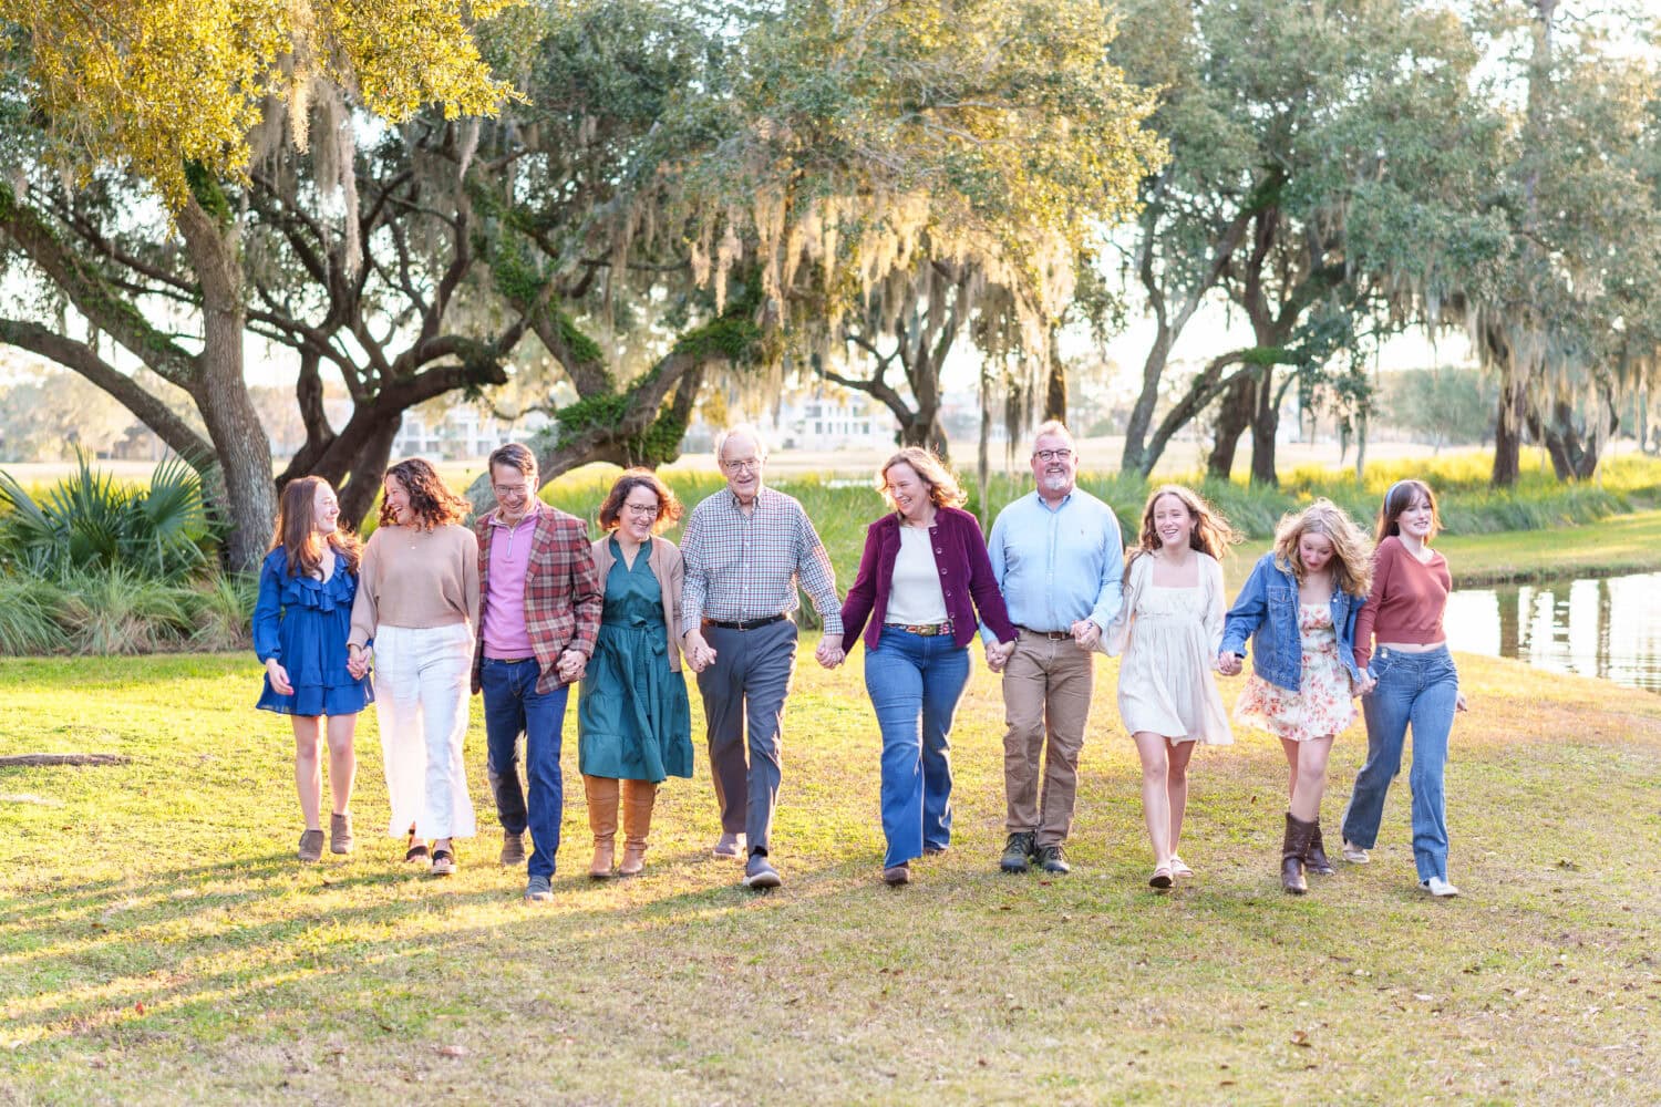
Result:
{"label": "maroon button cardigan worn open over a white top", "polygon": [[[933,548],[935,569],[940,571],[945,612],[952,619],[952,641],[968,646],[975,637],[975,611],[980,611],[980,619],[992,627],[1000,642],[1015,641],[1015,624],[1010,622],[1003,594],[992,576],[987,539],[982,538],[975,516],[960,508],[938,508],[933,526],[928,528],[928,544]],[[890,513],[865,531],[859,576],[842,601],[844,644],[864,627],[865,649],[875,649],[877,639],[882,637],[882,617],[889,611],[889,586],[894,583],[894,559],[899,553],[900,516]],[[867,619],[870,619],[869,627]]]}

